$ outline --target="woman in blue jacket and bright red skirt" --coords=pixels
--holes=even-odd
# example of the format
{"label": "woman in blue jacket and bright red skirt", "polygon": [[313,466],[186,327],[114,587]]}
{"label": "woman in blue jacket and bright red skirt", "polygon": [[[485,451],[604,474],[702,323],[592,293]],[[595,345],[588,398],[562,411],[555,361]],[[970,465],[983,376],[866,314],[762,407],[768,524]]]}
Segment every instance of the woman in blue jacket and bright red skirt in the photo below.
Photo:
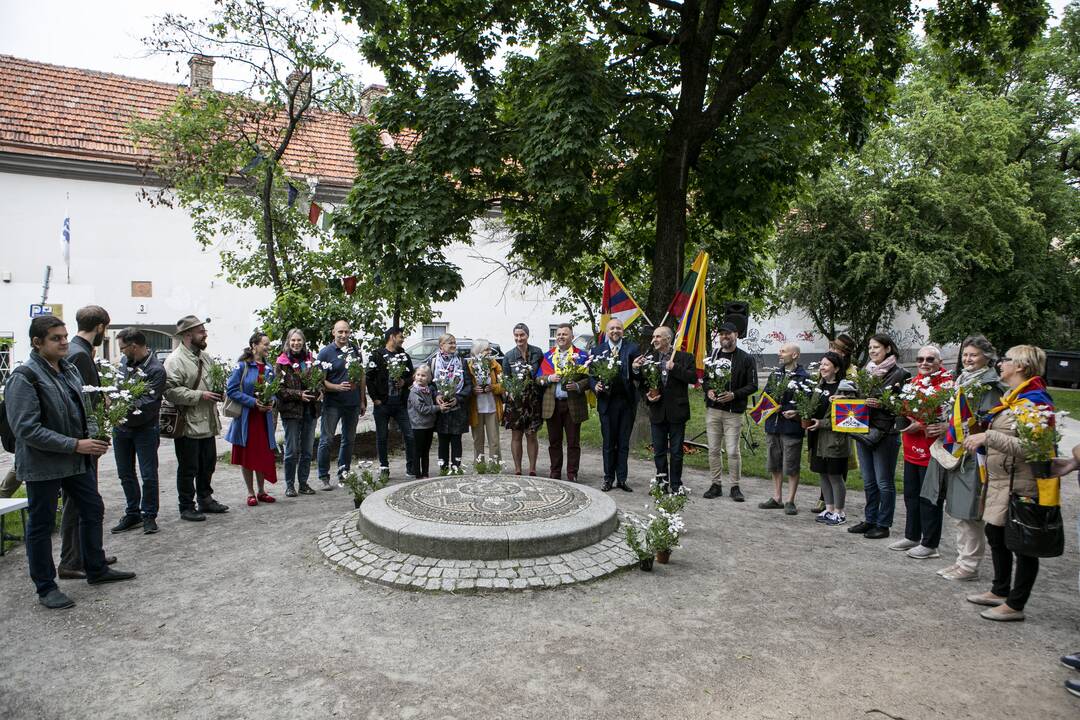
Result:
{"label": "woman in blue jacket and bright red skirt", "polygon": [[[255,332],[247,341],[240,361],[229,383],[226,394],[239,403],[242,411],[239,418],[229,425],[225,439],[232,443],[232,464],[240,465],[247,484],[247,504],[252,507],[274,502],[273,495],[266,491],[264,483],[278,481],[278,466],[274,461],[273,415],[271,406],[258,400],[256,385],[273,381],[273,367],[267,363],[270,352],[270,338],[266,332]],[[253,478],[254,476],[254,478]],[[258,492],[255,484],[258,484]]]}

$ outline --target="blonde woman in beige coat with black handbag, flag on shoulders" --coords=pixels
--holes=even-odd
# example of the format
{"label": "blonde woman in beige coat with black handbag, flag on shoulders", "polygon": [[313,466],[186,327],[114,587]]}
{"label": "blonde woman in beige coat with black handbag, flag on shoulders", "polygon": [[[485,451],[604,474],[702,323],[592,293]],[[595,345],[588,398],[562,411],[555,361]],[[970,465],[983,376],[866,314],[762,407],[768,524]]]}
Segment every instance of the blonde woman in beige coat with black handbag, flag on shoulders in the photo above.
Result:
{"label": "blonde woman in beige coat with black handbag, flag on shoulders", "polygon": [[[994,560],[994,584],[986,593],[969,595],[968,601],[989,606],[981,614],[986,620],[1024,620],[1024,606],[1039,574],[1039,558],[1013,553],[1005,547],[1005,517],[1009,513],[1010,484],[1012,492],[1037,501],[1038,485],[1024,462],[1024,449],[1016,437],[1013,408],[1025,402],[1049,405],[1050,395],[1042,383],[1047,353],[1032,345],[1011,348],[1001,358],[1001,380],[1009,392],[994,408],[990,425],[985,433],[969,436],[963,447],[974,452],[986,447],[986,542]],[[1052,405],[1049,405],[1053,409]],[[1013,578],[1013,558],[1016,575]]]}

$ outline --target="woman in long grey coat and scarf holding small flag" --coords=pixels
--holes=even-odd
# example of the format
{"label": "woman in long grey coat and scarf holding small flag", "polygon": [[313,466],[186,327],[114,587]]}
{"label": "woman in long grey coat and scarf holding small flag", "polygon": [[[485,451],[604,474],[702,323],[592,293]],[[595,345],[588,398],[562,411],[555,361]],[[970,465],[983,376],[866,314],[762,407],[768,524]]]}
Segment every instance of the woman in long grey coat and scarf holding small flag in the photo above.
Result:
{"label": "woman in long grey coat and scarf holding small flag", "polygon": [[[944,492],[945,512],[956,518],[956,562],[937,571],[946,580],[978,578],[978,563],[986,551],[980,477],[980,464],[985,456],[967,452],[958,440],[984,430],[980,418],[1001,400],[1003,386],[993,367],[996,356],[994,345],[982,335],[964,339],[960,344],[956,378],[957,393],[962,396],[957,396],[945,422],[927,426],[928,436],[941,439],[930,446],[922,497],[936,504]],[[968,408],[968,397],[980,398],[975,407]],[[959,413],[956,411],[958,404],[962,405]]]}

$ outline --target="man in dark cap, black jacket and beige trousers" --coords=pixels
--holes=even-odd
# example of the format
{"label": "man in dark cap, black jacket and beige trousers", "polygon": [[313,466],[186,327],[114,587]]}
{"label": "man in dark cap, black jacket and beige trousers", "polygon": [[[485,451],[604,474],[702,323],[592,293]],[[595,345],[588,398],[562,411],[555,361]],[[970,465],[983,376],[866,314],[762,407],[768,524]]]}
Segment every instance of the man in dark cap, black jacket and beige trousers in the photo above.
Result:
{"label": "man in dark cap, black jacket and beige trousers", "polygon": [[743,502],[739,480],[742,478],[742,417],[746,412],[746,402],[757,392],[757,365],[745,350],[735,343],[739,326],[725,321],[717,330],[719,345],[713,350],[710,363],[724,363],[731,369],[731,380],[726,390],[710,390],[705,393],[705,434],[708,438],[708,472],[713,484],[703,498],[712,500],[724,494],[724,453],[728,453],[728,472],[731,475],[731,500]]}

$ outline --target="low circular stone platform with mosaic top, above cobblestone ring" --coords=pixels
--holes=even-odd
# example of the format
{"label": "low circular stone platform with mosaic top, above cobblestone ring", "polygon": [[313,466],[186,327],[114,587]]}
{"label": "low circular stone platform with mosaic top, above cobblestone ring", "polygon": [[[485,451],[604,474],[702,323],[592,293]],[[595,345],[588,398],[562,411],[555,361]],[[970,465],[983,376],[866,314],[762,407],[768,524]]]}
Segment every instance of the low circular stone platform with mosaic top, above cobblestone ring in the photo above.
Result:
{"label": "low circular stone platform with mosaic top, above cobblestone ring", "polygon": [[383,488],[357,528],[399,553],[462,560],[559,555],[619,526],[607,495],[581,485],[510,475],[454,475]]}

